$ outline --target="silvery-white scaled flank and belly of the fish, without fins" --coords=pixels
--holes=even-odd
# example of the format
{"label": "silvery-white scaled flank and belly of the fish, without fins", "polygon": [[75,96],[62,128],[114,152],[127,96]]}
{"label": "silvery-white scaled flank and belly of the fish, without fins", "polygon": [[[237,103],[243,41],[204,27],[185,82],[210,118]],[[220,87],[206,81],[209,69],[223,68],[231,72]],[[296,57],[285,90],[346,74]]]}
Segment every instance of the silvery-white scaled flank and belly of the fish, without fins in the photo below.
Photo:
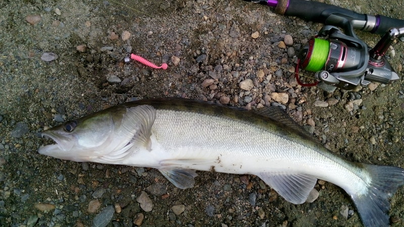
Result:
{"label": "silvery-white scaled flank and belly of the fish, without fins", "polygon": [[163,165],[231,174],[307,174],[348,191],[358,190],[348,189],[352,181],[362,181],[342,159],[236,119],[159,110],[152,133],[152,149],[161,153]]}

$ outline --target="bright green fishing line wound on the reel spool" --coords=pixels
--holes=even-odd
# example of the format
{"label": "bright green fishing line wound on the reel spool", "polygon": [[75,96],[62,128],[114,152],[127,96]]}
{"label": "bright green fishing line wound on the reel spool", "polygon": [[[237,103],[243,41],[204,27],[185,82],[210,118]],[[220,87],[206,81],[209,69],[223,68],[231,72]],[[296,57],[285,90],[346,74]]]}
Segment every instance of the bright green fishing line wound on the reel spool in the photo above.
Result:
{"label": "bright green fishing line wound on the reel spool", "polygon": [[313,53],[306,70],[317,72],[324,69],[328,57],[330,42],[325,39],[314,39]]}

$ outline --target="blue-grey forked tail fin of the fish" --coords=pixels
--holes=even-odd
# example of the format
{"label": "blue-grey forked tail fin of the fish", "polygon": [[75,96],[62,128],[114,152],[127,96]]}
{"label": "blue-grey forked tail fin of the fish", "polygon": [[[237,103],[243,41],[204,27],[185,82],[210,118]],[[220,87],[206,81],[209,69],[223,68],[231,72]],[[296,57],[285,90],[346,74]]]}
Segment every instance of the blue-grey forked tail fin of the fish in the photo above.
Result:
{"label": "blue-grey forked tail fin of the fish", "polygon": [[[363,164],[369,174],[367,192],[351,194],[365,226],[389,226],[389,198],[404,185],[404,169]],[[352,184],[355,184],[352,182]]]}

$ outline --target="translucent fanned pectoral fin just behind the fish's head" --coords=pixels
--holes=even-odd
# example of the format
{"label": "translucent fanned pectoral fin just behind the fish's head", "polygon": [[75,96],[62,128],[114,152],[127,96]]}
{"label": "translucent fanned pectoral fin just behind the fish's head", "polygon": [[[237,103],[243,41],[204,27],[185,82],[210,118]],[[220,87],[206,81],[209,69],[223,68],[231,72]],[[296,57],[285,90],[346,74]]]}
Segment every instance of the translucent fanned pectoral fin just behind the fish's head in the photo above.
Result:
{"label": "translucent fanned pectoral fin just behind the fish's head", "polygon": [[156,119],[156,109],[150,105],[127,108],[122,119],[121,133],[129,143],[151,149],[151,127]]}

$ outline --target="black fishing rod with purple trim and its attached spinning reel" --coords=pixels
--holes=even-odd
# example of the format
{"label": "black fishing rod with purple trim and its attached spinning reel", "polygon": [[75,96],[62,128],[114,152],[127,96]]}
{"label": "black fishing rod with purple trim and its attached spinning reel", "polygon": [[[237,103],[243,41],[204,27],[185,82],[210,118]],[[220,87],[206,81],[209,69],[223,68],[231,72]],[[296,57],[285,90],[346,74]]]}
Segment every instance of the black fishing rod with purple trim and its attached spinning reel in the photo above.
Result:
{"label": "black fishing rod with purple trim and its attached spinning reel", "polygon": [[[399,79],[385,54],[394,40],[404,41],[404,20],[359,14],[338,6],[305,0],[243,1],[273,7],[275,12],[281,15],[326,24],[298,53],[295,76],[300,85],[314,86],[322,81],[350,90],[360,84],[390,84]],[[371,48],[358,38],[354,29],[384,36]],[[316,72],[316,83],[300,82],[300,64],[303,69]]]}

